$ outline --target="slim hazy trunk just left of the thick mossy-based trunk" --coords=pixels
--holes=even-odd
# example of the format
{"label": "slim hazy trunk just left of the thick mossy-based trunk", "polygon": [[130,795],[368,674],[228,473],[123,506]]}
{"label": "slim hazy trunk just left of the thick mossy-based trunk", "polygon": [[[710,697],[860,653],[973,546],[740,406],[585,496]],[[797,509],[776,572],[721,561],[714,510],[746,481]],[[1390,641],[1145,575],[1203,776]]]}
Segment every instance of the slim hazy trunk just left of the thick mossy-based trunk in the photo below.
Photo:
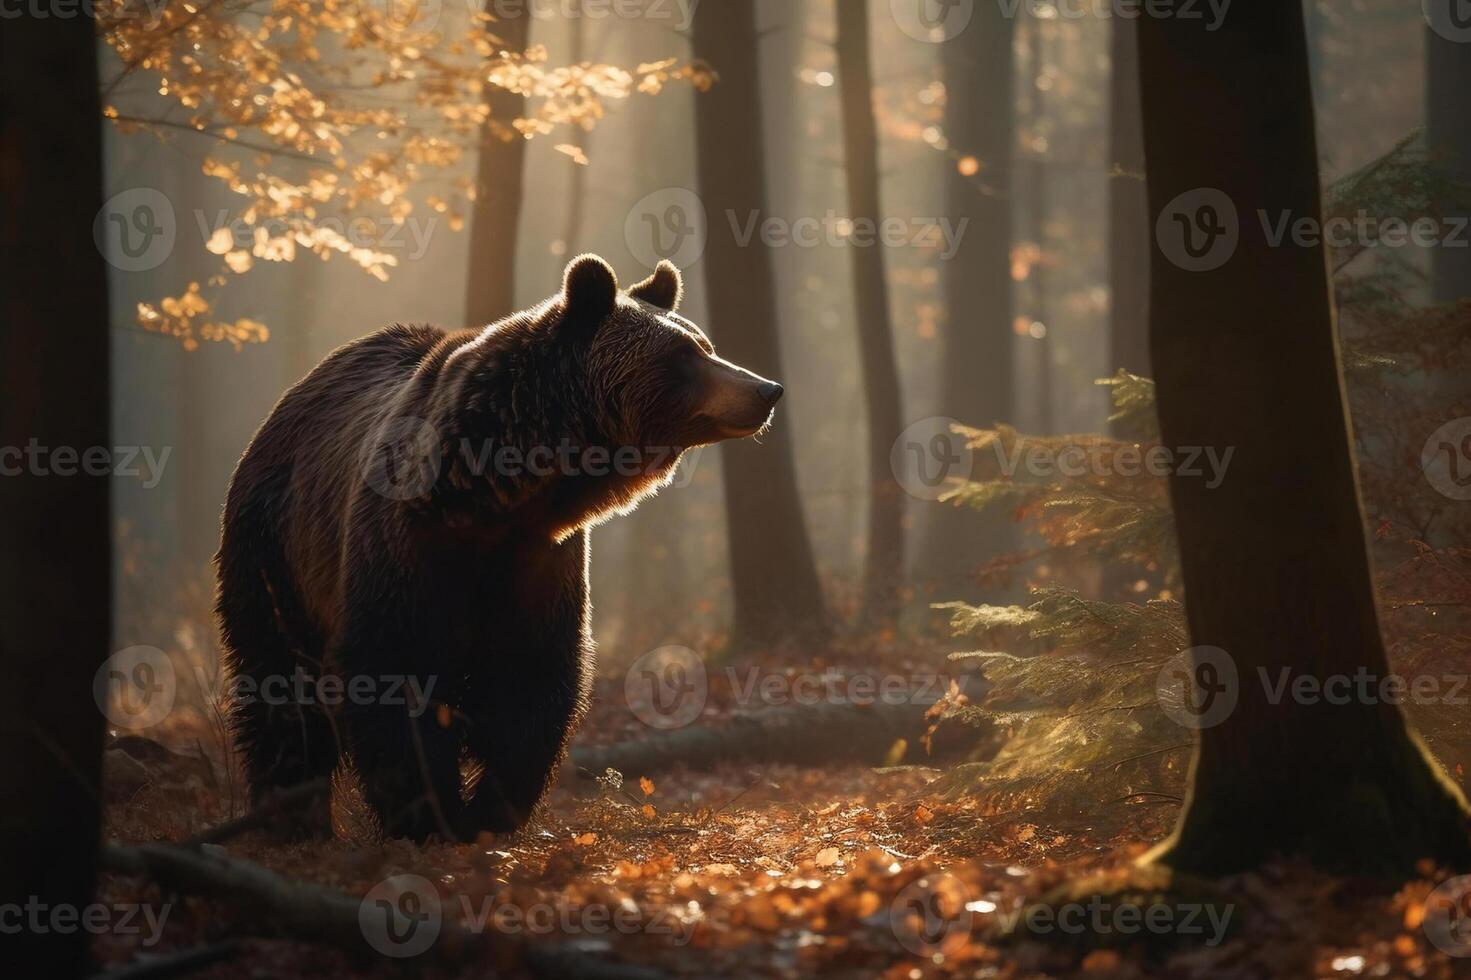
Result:
{"label": "slim hazy trunk just left of the thick mossy-based trunk", "polygon": [[[1134,24],[1112,19],[1109,113],[1109,374],[1149,377],[1149,202],[1144,132],[1139,115],[1139,38]],[[1131,436],[1131,433],[1119,433]]]}

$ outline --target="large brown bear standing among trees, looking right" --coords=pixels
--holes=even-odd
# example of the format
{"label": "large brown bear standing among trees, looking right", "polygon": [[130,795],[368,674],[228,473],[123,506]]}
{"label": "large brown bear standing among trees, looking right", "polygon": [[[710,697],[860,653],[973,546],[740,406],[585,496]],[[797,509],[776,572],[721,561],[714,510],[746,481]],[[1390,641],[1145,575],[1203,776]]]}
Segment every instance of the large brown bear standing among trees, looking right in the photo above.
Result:
{"label": "large brown bear standing among trees, looking right", "polygon": [[[388,327],[285,393],[215,559],[256,800],[346,755],[390,836],[528,820],[587,705],[588,528],[687,449],[759,433],[781,397],[716,356],[680,294],[668,262],[621,294],[584,255],[534,309]],[[331,833],[325,803],[288,827]]]}

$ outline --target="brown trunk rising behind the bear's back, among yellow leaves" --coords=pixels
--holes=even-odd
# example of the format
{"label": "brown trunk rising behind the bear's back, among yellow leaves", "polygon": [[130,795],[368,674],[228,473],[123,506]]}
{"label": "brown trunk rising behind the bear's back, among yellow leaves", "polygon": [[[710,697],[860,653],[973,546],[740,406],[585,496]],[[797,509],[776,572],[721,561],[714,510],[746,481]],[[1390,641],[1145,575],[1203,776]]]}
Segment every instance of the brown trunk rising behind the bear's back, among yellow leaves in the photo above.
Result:
{"label": "brown trunk rising behind the bear's back, among yellow leaves", "polygon": [[[487,10],[494,7],[485,4]],[[531,34],[530,7],[490,25],[505,50],[524,52]],[[522,174],[527,141],[510,124],[525,113],[527,100],[499,87],[485,88],[490,116],[481,127],[475,165],[475,206],[469,219],[469,277],[465,322],[488,324],[515,312],[516,228],[521,224]]]}

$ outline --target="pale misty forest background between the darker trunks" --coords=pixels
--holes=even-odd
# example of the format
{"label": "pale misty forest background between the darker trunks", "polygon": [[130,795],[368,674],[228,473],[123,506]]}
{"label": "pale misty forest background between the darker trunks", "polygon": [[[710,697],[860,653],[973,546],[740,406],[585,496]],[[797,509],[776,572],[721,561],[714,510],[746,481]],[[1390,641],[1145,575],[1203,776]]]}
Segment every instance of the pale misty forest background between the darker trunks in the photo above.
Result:
{"label": "pale misty forest background between the darker trunks", "polygon": [[[1149,374],[1143,309],[1149,230],[1137,180],[1137,91],[1119,88],[1111,71],[1114,57],[1131,57],[1133,44],[1121,37],[1127,31],[1115,29],[1128,22],[1059,18],[1047,4],[1037,6],[1041,16],[1006,21],[994,16],[994,4],[983,3],[975,16],[994,16],[996,24],[941,46],[900,32],[887,4],[869,6],[881,213],[952,225],[971,219],[952,260],[938,258],[943,243],[881,250],[902,424],[952,416],[977,427],[1006,422],[1022,433],[1106,433],[1114,406],[1096,380],[1119,368]],[[1389,0],[1308,9],[1328,185],[1424,127],[1428,32],[1417,9]],[[469,22],[466,4],[443,4],[437,29],[453,34],[456,19]],[[834,4],[761,3],[759,24],[768,190],[761,216],[850,215]],[[696,56],[688,37],[659,21],[547,18],[534,21],[531,31],[530,44],[546,47],[549,65],[588,60],[631,68]],[[966,43],[980,50],[956,50]],[[950,104],[947,52],[987,65],[984,78],[961,77],[977,84],[959,88]],[[1375,69],[1364,71],[1365,65]],[[147,106],[146,93],[140,103],[138,87],[129,91],[135,110]],[[1119,94],[1122,110],[1114,103]],[[563,125],[525,141],[521,206],[510,212],[519,210],[510,297],[485,296],[496,287],[482,280],[496,271],[472,262],[472,231],[456,230],[456,215],[421,203],[412,221],[427,234],[424,253],[415,258],[413,234],[402,234],[402,244],[384,249],[399,262],[385,281],[350,260],[324,262],[302,249],[293,262],[257,260],[247,280],[213,293],[206,288],[218,294],[216,315],[269,328],[268,343],[243,349],[224,341],[182,344],[137,327],[140,302],[154,303],[216,275],[219,256],[204,249],[206,232],[221,213],[235,219],[241,197],[202,172],[206,156],[219,156],[215,140],[175,128],[127,134],[109,128],[106,196],[157,188],[174,202],[178,227],[172,255],[159,268],[110,277],[112,319],[119,327],[115,443],[174,450],[157,487],[124,480],[115,486],[118,581],[125,593],[119,637],[143,642],[172,621],[177,628],[168,636],[212,646],[213,630],[203,615],[207,561],[218,546],[221,502],[235,459],[281,391],[334,347],[390,322],[474,325],[522,309],[555,291],[562,265],[577,252],[605,256],[625,283],[644,275],[646,263],[630,253],[625,221],[650,193],[699,188],[696,100],[709,97],[691,84],[671,82],[658,94],[605,100],[606,118],[591,131]],[[166,99],[154,102],[159,118],[182,118]],[[585,165],[565,152],[568,143],[581,147]],[[997,155],[996,146],[1005,153]],[[291,165],[284,156],[277,160],[284,171]],[[431,190],[474,177],[475,165],[475,155],[466,153],[459,166],[434,175]],[[496,184],[513,180],[494,177]],[[744,225],[750,210],[741,207],[736,221]],[[713,209],[708,219],[712,230],[728,221]],[[1119,219],[1131,224],[1119,230]],[[724,324],[712,327],[709,296],[712,281],[738,278],[740,271],[712,262],[713,252],[685,269],[685,312],[710,327],[722,349],[736,349],[736,340],[721,335]],[[787,384],[778,428],[793,447],[815,571],[838,628],[862,621],[868,505],[878,489],[866,450],[852,252],[787,246],[774,253],[780,361],[755,365]],[[1425,302],[1436,285],[1428,255],[1415,252],[1399,249],[1384,260],[1425,271],[1409,287],[1412,300]],[[1449,288],[1464,294],[1471,274],[1447,275]],[[731,288],[744,287],[737,281]],[[484,309],[471,312],[477,299]],[[947,341],[956,343],[962,331],[965,356],[946,358]],[[594,622],[605,658],[616,662],[662,643],[702,649],[724,643],[733,617],[725,458],[724,447],[703,452],[688,487],[597,531]],[[994,528],[987,536],[983,521],[956,518],[944,505],[894,496],[905,533],[906,622],[915,628],[936,622],[927,608],[933,600],[1016,599],[1028,577],[1039,581],[1058,572],[1043,561],[1019,580],[977,580],[978,568],[1021,543]],[[774,583],[790,574],[781,565],[800,555],[771,540],[788,533],[768,524],[763,534],[762,559],[777,565]],[[1068,584],[1103,594],[1099,572],[1094,565]],[[1121,583],[1115,577],[1108,584]],[[140,618],[152,619],[152,628],[137,624]]]}

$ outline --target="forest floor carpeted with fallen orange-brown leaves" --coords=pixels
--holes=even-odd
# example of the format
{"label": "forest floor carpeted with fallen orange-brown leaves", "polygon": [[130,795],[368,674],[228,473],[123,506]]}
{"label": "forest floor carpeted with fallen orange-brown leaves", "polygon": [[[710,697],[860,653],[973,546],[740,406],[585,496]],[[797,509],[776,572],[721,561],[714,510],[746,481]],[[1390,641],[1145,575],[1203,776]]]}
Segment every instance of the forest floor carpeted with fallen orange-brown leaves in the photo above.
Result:
{"label": "forest floor carpeted with fallen orange-brown leaves", "polygon": [[[630,731],[622,678],[600,680],[580,737]],[[109,752],[112,843],[179,842],[241,814],[218,727],[147,734],[172,752],[141,762]],[[119,874],[103,877],[100,901],[147,914],[99,936],[97,956],[116,970],[216,949],[221,958],[187,973],[218,980],[456,977],[488,976],[507,943],[524,940],[566,954],[541,976],[574,980],[1471,976],[1471,959],[1446,955],[1421,928],[1446,877],[1434,868],[1397,887],[1280,865],[1153,890],[1133,868],[1178,812],[1167,795],[1071,814],[991,812],[922,765],[624,775],[621,786],[563,777],[527,828],[475,843],[382,840],[340,792],[330,842],[250,831],[207,849],[355,902],[368,896],[369,915],[375,896],[405,909],[399,876],[418,876],[427,886],[415,901],[424,887],[437,896],[443,934],[413,956],[372,952],[384,936],[366,927],[347,942],[304,942],[290,917],[228,892],[178,895]],[[1059,892],[1078,881],[1108,884]],[[1022,917],[1024,906],[1041,912]],[[616,964],[635,970],[609,973]]]}

